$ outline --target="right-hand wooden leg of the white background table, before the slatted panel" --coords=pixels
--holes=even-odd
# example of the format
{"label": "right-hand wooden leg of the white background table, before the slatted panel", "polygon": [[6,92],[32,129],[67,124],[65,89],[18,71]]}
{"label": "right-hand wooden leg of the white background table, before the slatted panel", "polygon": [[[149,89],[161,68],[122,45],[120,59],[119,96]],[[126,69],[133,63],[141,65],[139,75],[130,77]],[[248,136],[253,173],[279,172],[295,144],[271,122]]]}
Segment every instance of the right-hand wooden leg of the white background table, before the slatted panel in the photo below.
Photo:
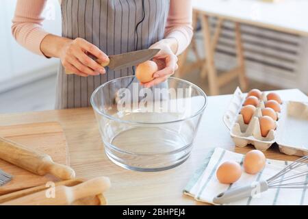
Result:
{"label": "right-hand wooden leg of the white background table, before the slatted panel", "polygon": [[237,22],[235,23],[235,42],[236,42],[238,66],[240,67],[240,72],[239,72],[240,87],[243,91],[245,91],[248,88],[248,80],[246,78],[244,50],[242,46],[240,23]]}

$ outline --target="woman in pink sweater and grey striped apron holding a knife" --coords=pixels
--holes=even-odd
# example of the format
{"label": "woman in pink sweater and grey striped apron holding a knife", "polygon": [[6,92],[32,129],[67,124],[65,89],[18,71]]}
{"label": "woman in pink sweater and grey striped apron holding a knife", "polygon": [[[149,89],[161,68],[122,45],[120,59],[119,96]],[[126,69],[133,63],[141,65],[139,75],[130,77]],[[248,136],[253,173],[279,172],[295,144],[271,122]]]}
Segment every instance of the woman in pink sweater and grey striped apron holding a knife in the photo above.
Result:
{"label": "woman in pink sweater and grey striped apron holding a knife", "polygon": [[[45,57],[58,57],[56,108],[86,107],[90,95],[105,81],[133,74],[133,68],[113,71],[94,62],[107,55],[140,49],[161,49],[155,61],[162,66],[155,79],[165,81],[177,69],[177,55],[192,38],[191,0],[62,0],[62,36],[41,27],[46,0],[18,0],[13,18],[14,38]],[[74,75],[66,75],[65,70]]]}

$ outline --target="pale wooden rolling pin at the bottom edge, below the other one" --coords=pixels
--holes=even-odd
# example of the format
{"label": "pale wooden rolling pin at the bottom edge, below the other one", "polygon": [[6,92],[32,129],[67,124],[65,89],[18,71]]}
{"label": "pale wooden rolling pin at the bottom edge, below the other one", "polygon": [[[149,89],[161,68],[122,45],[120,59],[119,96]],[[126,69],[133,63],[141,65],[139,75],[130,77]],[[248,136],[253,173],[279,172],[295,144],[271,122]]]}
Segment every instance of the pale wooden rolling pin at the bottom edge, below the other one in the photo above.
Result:
{"label": "pale wooden rolling pin at the bottom edge, below the other one", "polygon": [[73,187],[56,186],[54,197],[47,198],[47,190],[43,190],[4,202],[1,205],[71,205],[80,198],[102,194],[109,188],[110,180],[107,177],[97,177]]}

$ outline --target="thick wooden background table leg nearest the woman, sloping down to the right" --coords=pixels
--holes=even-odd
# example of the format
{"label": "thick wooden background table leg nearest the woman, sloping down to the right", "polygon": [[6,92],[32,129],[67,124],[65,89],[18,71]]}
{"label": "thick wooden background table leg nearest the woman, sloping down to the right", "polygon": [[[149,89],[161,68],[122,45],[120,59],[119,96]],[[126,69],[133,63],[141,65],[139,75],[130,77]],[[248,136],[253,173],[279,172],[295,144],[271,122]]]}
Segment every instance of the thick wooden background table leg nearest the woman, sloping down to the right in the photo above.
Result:
{"label": "thick wooden background table leg nearest the woman, sloping down to the right", "polygon": [[214,51],[211,45],[211,31],[209,29],[209,18],[206,15],[201,15],[201,24],[204,38],[205,55],[206,55],[206,68],[207,75],[209,78],[209,94],[218,95],[218,77],[216,73],[216,67],[214,64]]}

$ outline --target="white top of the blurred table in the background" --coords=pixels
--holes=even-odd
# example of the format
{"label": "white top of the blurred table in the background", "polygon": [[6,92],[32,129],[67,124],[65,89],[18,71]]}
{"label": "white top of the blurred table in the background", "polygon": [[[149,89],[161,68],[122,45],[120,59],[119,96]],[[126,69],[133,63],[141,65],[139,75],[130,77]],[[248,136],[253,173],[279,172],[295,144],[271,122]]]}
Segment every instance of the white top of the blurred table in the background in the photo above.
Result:
{"label": "white top of the blurred table in the background", "polygon": [[229,21],[308,36],[308,1],[193,0],[194,10]]}

